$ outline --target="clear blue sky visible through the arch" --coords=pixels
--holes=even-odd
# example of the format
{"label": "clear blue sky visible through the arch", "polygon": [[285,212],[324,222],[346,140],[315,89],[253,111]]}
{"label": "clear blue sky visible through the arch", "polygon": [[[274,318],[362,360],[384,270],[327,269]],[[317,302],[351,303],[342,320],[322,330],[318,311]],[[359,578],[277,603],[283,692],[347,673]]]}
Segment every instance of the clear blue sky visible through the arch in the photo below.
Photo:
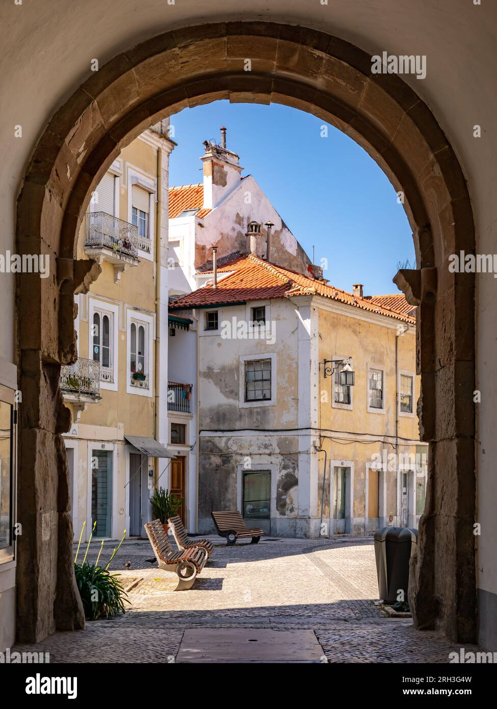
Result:
{"label": "clear blue sky visible through the arch", "polygon": [[172,116],[174,140],[169,184],[201,182],[203,141],[227,145],[240,155],[314,262],[328,259],[324,276],[350,291],[398,292],[392,283],[399,261],[414,261],[413,238],[403,206],[384,172],[367,152],[320,118],[287,106],[213,104]]}

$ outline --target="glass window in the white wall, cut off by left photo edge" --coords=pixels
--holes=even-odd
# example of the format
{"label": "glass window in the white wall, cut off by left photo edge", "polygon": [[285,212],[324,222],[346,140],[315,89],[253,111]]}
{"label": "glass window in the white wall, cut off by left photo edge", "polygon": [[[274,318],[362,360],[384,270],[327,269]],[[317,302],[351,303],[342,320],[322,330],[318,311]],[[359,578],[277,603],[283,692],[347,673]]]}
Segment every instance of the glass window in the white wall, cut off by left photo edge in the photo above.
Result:
{"label": "glass window in the white wall, cut off by left photo edge", "polygon": [[[0,386],[1,395],[10,392]],[[13,559],[13,423],[12,403],[0,401],[0,563]]]}

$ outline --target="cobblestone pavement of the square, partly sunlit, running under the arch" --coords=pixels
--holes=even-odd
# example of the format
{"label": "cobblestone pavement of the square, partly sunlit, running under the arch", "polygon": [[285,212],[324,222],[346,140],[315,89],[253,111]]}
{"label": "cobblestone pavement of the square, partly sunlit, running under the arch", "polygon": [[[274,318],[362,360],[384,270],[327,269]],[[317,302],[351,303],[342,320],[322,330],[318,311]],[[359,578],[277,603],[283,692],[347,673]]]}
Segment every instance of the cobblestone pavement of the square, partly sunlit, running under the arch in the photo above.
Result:
{"label": "cobblestone pavement of the square, partly sunlit, running under the arch", "polygon": [[[122,573],[130,610],[114,620],[57,632],[16,650],[50,652],[50,662],[174,662],[192,627],[253,627],[315,632],[329,662],[447,662],[459,650],[412,621],[387,618],[377,601],[372,540],[262,539],[226,547],[190,591],[174,592],[174,574],[157,569],[147,541],[125,542],[111,569]],[[99,544],[91,545],[94,561]],[[101,562],[110,557],[106,543]],[[80,552],[79,559],[82,559]],[[471,647],[466,646],[469,650]]]}

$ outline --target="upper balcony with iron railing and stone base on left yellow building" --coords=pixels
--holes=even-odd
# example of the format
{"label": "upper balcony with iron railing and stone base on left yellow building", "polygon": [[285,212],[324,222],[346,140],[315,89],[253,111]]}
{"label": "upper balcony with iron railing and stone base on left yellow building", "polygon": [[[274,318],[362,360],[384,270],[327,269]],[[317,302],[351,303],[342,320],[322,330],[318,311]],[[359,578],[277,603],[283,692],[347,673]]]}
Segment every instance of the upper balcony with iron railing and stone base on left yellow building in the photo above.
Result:
{"label": "upper balcony with iron railing and stone base on left yellow building", "polygon": [[[86,214],[84,250],[97,262],[107,261],[114,267],[114,282],[121,280],[128,266],[138,266],[138,228],[106,212]],[[146,249],[144,249],[146,250]],[[150,250],[150,244],[149,244]]]}

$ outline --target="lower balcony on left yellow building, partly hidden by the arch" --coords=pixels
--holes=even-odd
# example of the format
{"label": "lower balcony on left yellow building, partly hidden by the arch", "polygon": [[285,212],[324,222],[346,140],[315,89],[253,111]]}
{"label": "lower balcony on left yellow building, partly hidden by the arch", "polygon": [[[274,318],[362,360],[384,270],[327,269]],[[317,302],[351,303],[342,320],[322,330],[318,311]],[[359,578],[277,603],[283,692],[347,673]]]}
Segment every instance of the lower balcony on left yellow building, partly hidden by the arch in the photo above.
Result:
{"label": "lower balcony on left yellow building, partly hidden by the arch", "polygon": [[100,401],[100,364],[80,357],[60,368],[60,390],[64,401],[72,403],[77,421],[89,403]]}

